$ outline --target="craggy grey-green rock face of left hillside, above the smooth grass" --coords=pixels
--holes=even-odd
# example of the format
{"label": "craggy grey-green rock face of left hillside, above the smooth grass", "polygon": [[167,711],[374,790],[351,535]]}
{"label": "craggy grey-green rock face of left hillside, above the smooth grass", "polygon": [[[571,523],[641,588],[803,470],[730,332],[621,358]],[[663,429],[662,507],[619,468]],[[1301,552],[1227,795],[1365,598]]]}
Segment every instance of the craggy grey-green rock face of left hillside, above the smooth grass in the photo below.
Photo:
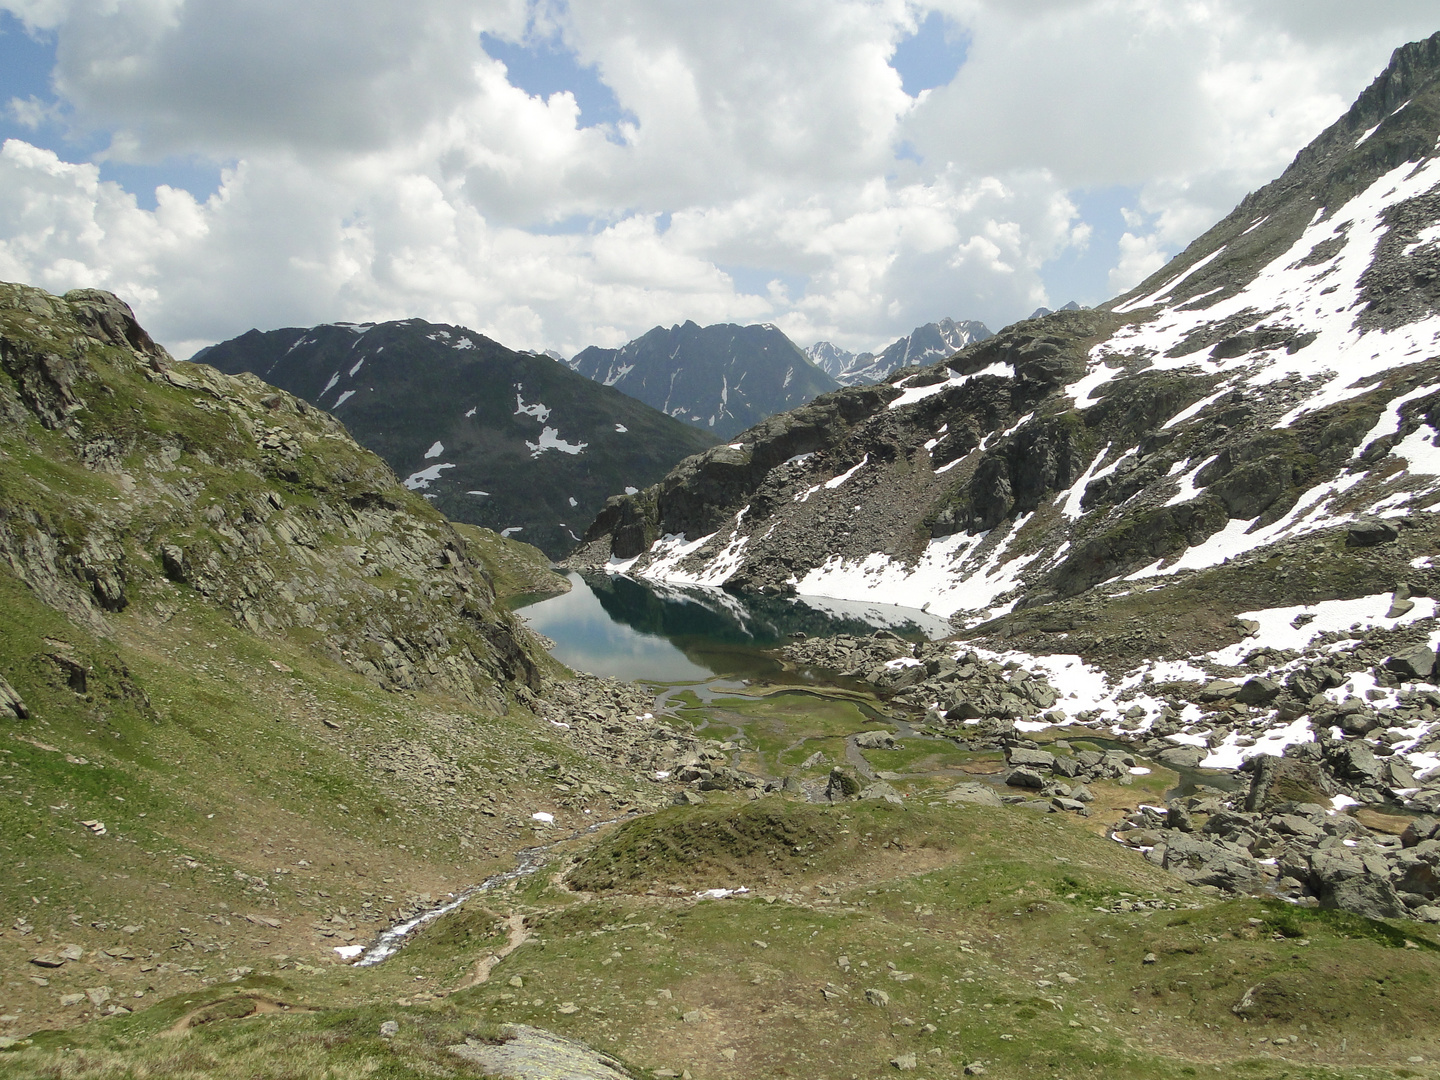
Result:
{"label": "craggy grey-green rock face of left hillside, above the smooth grass", "polygon": [[199,598],[396,690],[504,710],[540,685],[471,543],[383,461],[253,376],[173,361],[115,297],[0,285],[0,560],[69,618]]}

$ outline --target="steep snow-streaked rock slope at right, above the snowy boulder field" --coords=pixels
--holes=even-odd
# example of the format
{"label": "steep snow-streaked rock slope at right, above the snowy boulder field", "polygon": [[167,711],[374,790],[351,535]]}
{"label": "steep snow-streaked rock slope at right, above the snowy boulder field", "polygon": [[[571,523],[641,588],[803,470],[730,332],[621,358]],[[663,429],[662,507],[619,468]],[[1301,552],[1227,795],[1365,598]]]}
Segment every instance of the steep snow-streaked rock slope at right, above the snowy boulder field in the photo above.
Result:
{"label": "steep snow-streaked rock slope at right, above the snowy boulder field", "polygon": [[1388,589],[1440,490],[1437,117],[1440,37],[1130,294],[772,416],[608,505],[576,562],[1027,626],[1312,543],[1238,603]]}

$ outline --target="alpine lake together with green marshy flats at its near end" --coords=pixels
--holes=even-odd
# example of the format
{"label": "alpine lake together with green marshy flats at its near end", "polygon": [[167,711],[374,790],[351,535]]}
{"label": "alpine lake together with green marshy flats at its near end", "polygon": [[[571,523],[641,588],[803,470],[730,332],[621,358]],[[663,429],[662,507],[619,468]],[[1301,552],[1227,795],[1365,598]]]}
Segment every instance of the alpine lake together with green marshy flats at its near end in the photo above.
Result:
{"label": "alpine lake together with green marshy flats at its near end", "polygon": [[[552,655],[577,671],[634,680],[655,693],[665,723],[733,744],[732,765],[766,779],[822,780],[832,766],[861,782],[886,780],[904,798],[935,796],[962,782],[1004,786],[1004,755],[969,749],[963,729],[937,729],[891,704],[855,675],[782,660],[796,639],[867,636],[877,631],[906,641],[940,639],[950,625],[910,608],[831,598],[736,596],[719,589],[642,582],[619,575],[567,575],[559,596],[520,598],[518,613],[554,642]],[[893,749],[860,747],[854,736],[886,730]],[[1076,750],[1129,749],[1084,729],[1034,732],[1041,744],[1067,740]],[[1233,791],[1230,772],[1176,770],[1145,762],[1125,799],[1162,802],[1201,785]],[[1116,802],[1106,799],[1104,802]],[[1097,809],[1100,809],[1097,806]]]}

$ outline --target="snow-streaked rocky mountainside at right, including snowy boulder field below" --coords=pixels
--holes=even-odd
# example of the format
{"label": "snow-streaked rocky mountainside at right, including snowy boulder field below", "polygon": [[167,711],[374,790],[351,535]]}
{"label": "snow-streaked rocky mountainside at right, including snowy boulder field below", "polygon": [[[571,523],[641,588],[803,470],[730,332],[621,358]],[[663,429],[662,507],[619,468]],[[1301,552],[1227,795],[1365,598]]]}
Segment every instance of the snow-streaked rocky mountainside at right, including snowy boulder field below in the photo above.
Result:
{"label": "snow-streaked rocky mountainside at right, including snowy boulder field below", "polygon": [[1354,713],[1440,770],[1437,137],[1440,35],[1135,291],[773,416],[576,563],[946,615],[1208,765]]}

